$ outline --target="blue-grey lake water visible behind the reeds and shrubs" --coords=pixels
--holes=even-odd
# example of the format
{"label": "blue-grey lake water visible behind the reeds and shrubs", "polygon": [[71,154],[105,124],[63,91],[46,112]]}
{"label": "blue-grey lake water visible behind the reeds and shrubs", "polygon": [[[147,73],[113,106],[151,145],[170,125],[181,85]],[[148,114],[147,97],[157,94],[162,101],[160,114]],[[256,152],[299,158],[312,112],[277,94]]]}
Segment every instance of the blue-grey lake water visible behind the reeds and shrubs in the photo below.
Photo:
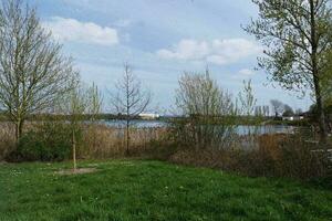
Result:
{"label": "blue-grey lake water visible behind the reeds and shrubs", "polygon": [[[125,120],[101,120],[100,124],[108,127],[124,128]],[[167,127],[168,124],[160,120],[133,120],[133,125],[137,128],[158,128]],[[294,130],[293,126],[283,125],[266,125],[266,126],[237,126],[236,131],[239,135],[248,135],[250,133],[256,134],[290,134]]]}

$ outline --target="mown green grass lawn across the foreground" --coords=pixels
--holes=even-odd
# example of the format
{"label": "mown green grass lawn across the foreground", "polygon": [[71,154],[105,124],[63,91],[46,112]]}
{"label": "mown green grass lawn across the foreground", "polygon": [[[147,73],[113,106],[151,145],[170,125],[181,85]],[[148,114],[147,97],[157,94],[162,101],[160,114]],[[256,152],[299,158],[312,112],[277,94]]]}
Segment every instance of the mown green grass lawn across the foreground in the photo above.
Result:
{"label": "mown green grass lawn across the foreground", "polygon": [[332,191],[158,161],[0,165],[0,220],[332,220]]}

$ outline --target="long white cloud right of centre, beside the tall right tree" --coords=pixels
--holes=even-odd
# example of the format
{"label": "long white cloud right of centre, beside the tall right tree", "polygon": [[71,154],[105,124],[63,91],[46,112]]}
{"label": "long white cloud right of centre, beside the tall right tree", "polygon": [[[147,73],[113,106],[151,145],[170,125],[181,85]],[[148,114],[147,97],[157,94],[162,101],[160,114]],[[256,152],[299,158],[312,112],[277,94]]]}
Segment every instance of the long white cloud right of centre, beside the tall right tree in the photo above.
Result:
{"label": "long white cloud right of centre, beside the tall right tree", "polygon": [[206,61],[217,65],[235,63],[250,55],[261,53],[262,48],[246,39],[214,41],[181,40],[172,49],[157,51],[163,59]]}

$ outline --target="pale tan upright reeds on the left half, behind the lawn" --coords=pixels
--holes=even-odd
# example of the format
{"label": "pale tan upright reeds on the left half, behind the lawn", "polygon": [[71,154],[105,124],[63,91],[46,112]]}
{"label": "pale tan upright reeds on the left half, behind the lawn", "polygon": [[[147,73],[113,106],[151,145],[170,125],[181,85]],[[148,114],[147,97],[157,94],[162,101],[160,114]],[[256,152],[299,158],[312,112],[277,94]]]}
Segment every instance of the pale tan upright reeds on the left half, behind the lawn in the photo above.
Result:
{"label": "pale tan upright reeds on the left half, behind the lawn", "polygon": [[[34,130],[40,127],[28,123],[24,130]],[[131,155],[142,156],[158,149],[157,145],[167,143],[166,128],[132,128]],[[0,161],[15,147],[14,127],[9,123],[1,123],[0,127]],[[77,156],[82,159],[105,159],[126,156],[124,130],[104,125],[92,125],[83,128],[82,141]]]}

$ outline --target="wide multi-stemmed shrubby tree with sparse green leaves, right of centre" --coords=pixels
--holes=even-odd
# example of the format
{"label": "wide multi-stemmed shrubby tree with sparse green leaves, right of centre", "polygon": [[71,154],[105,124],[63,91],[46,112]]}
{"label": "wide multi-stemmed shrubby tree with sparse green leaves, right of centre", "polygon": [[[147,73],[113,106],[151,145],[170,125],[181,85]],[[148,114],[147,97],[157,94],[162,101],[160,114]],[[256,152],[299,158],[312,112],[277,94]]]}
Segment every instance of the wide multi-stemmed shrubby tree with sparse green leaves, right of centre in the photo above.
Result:
{"label": "wide multi-stemmed shrubby tree with sparse green leaves, right of centre", "polygon": [[220,147],[231,140],[235,105],[229,93],[206,73],[184,73],[178,81],[176,107],[185,120],[175,122],[180,144],[196,148]]}

